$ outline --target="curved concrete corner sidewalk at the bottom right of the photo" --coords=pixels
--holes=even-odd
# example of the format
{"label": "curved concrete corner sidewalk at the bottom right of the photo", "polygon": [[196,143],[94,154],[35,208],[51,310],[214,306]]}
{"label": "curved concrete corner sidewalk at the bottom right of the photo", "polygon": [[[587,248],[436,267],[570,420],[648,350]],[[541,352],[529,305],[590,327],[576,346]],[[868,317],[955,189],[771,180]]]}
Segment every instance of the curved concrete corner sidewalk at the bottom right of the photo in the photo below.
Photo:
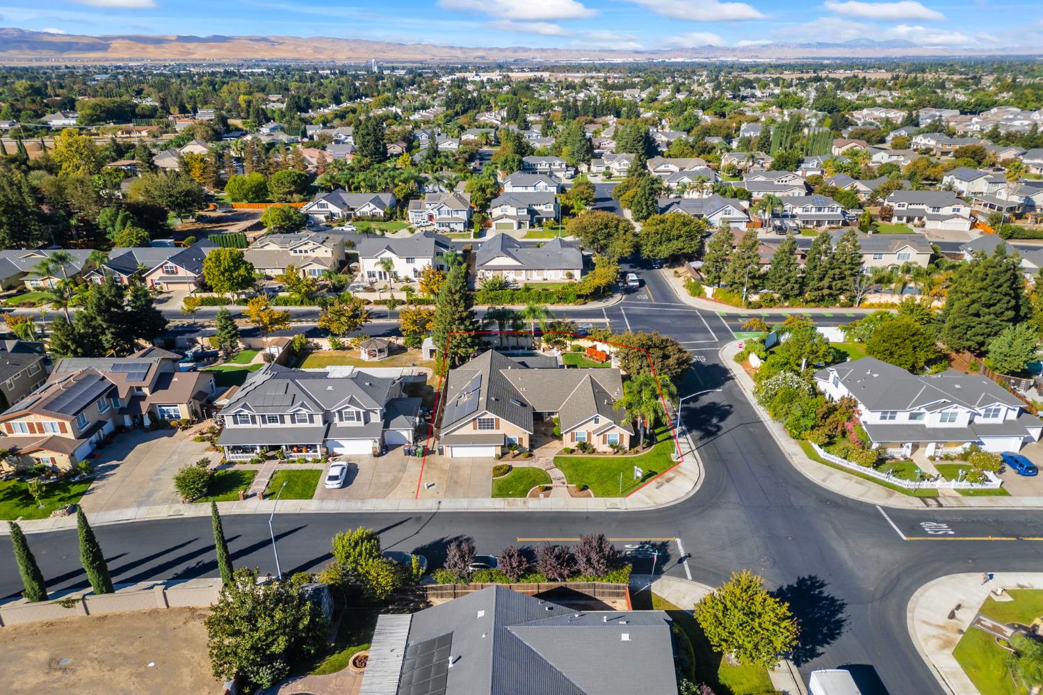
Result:
{"label": "curved concrete corner sidewalk at the bottom right of the photo", "polygon": [[984,584],[980,573],[950,574],[927,582],[909,599],[905,616],[909,637],[946,693],[978,695],[952,650],[986,598],[1000,588],[1043,590],[1043,574],[997,572]]}

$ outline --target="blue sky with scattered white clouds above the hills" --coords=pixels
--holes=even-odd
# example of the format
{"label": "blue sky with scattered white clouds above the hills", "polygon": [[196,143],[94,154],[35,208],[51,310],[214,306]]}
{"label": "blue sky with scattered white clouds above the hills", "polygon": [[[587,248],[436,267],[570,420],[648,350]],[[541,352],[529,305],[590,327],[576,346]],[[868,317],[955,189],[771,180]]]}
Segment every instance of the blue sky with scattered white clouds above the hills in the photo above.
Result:
{"label": "blue sky with scattered white clouds above the hills", "polygon": [[1039,0],[0,0],[0,26],[65,33],[339,37],[455,46],[655,49],[906,40],[1043,43]]}

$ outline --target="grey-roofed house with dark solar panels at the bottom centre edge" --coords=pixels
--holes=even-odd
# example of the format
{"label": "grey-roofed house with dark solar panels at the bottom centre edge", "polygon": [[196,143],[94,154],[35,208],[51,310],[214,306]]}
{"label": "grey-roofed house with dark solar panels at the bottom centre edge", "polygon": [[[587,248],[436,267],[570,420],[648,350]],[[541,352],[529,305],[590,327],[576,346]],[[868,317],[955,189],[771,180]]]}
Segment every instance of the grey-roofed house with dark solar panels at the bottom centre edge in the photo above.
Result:
{"label": "grey-roofed house with dark solar panels at the bottom centre edge", "polygon": [[360,695],[673,695],[661,610],[583,610],[488,586],[377,620]]}

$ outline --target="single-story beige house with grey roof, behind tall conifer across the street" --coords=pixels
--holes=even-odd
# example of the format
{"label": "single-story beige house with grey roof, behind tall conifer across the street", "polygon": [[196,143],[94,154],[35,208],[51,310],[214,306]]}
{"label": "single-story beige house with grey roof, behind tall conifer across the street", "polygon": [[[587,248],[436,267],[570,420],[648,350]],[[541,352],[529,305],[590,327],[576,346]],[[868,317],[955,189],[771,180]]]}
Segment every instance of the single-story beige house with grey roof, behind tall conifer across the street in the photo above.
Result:
{"label": "single-story beige house with grey roof, behind tall conifer across the street", "polygon": [[475,253],[475,272],[478,281],[501,277],[518,285],[573,282],[583,275],[583,254],[557,238],[537,246],[496,234]]}

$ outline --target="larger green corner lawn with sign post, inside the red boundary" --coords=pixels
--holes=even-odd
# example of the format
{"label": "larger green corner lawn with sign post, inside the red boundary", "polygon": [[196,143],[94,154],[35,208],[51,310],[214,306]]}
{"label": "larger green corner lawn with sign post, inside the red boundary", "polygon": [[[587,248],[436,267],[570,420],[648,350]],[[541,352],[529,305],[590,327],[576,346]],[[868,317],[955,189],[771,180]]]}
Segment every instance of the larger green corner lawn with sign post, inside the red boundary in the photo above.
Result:
{"label": "larger green corner lawn with sign post, inside the red boundary", "polygon": [[[632,439],[637,441],[636,435]],[[674,453],[674,438],[670,428],[660,427],[656,430],[656,444],[652,449],[637,456],[600,455],[600,456],[564,456],[554,457],[554,464],[565,474],[565,479],[573,485],[586,485],[595,497],[624,497],[640,487],[644,483],[656,477],[663,471],[675,465],[670,458]],[[634,480],[634,466],[639,466],[644,474],[639,480]],[[623,474],[623,489],[620,489],[620,474]]]}

